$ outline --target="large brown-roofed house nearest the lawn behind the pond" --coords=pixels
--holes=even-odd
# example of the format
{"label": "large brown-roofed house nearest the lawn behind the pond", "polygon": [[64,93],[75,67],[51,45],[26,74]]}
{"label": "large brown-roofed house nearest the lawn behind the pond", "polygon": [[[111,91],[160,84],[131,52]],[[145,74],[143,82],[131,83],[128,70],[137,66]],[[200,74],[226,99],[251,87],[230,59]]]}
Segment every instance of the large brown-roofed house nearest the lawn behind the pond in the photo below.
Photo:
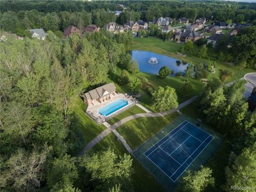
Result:
{"label": "large brown-roofed house nearest the lawn behind the pond", "polygon": [[175,33],[174,39],[176,42],[179,43],[187,43],[189,40],[195,42],[198,39],[202,38],[203,36],[196,31],[185,29],[183,31],[179,31]]}

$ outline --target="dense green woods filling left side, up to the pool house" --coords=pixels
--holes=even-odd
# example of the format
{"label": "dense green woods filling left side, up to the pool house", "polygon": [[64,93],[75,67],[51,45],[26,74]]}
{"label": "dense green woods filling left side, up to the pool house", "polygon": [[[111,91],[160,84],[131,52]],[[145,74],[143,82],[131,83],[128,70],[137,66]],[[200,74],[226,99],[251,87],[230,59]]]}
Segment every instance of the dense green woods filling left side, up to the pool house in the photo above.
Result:
{"label": "dense green woods filling left side, up to the pool house", "polygon": [[49,31],[45,41],[10,35],[0,42],[2,190],[132,189],[130,156],[109,149],[77,161],[85,141],[70,103],[73,95],[106,82],[132,37],[103,31],[61,41]]}

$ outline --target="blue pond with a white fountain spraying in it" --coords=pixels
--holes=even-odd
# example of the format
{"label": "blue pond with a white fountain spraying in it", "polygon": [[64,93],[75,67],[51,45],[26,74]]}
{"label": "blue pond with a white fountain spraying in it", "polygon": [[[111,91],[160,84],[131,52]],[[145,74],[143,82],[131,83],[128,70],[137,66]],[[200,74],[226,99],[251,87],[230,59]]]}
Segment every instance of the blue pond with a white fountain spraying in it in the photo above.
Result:
{"label": "blue pond with a white fountain spraying in it", "polygon": [[132,51],[132,60],[138,61],[140,71],[150,74],[158,74],[161,67],[167,66],[170,70],[173,70],[174,73],[172,76],[175,76],[178,72],[184,73],[188,66],[187,63],[183,63],[178,59],[154,52],[140,50]]}

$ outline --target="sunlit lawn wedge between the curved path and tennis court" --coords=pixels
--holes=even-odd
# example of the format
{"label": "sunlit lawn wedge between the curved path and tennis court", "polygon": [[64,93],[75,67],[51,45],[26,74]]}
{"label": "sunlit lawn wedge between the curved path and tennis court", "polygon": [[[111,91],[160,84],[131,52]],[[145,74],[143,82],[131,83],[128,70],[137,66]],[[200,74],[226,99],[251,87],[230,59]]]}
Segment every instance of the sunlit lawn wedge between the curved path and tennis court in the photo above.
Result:
{"label": "sunlit lawn wedge between the curved path and tennis court", "polygon": [[178,116],[175,112],[165,117],[140,117],[119,126],[117,131],[134,150]]}

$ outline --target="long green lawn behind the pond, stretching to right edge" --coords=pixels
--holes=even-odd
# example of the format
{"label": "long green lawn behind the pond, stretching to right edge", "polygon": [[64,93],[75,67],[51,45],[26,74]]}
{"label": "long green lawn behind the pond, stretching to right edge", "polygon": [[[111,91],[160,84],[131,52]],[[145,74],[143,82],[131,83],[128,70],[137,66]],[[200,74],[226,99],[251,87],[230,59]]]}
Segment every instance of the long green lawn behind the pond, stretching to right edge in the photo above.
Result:
{"label": "long green lawn behind the pond, stretching to right edge", "polygon": [[[209,61],[209,58],[199,58],[195,56],[196,53],[198,52],[198,48],[196,46],[194,46],[194,50],[192,50],[190,53],[186,53],[187,54],[186,57],[182,57],[178,55],[177,52],[179,51],[182,45],[183,44],[176,43],[173,41],[164,42],[162,39],[154,38],[154,37],[134,38],[133,44],[131,46],[131,50],[152,51],[159,54],[168,55],[170,57],[177,58],[180,60],[193,62],[195,64],[206,63]],[[250,73],[254,71],[252,69],[245,69],[242,67],[234,66],[230,63],[219,61],[217,60],[217,55],[214,55],[213,53],[210,53],[210,56],[211,56],[211,59],[216,62],[215,68],[217,70],[215,74],[210,74],[209,78],[212,78],[214,76],[220,77],[221,70],[229,70],[229,71],[233,71],[234,76],[228,79],[228,81],[234,81],[235,79],[239,79],[243,77],[246,73]]]}

